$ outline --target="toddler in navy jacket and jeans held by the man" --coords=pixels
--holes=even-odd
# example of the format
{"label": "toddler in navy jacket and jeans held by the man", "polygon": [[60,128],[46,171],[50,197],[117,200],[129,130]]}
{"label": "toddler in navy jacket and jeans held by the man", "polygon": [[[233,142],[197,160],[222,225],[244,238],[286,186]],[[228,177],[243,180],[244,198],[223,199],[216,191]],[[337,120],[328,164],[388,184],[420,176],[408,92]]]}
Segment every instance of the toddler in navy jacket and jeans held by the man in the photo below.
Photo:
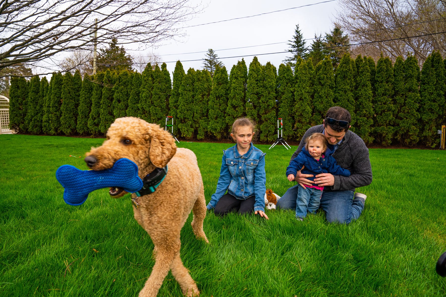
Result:
{"label": "toddler in navy jacket and jeans held by the man", "polygon": [[[312,174],[314,176],[320,173],[331,173],[332,175],[349,176],[350,171],[340,167],[327,148],[327,140],[322,133],[313,133],[306,139],[305,146],[302,151],[294,158],[289,166],[286,168],[286,175],[291,182],[301,170],[303,174]],[[307,179],[314,180],[313,177]],[[296,200],[296,218],[303,220],[306,217],[307,211],[315,213],[320,205],[320,199],[324,187],[319,187],[314,184],[299,188]]]}

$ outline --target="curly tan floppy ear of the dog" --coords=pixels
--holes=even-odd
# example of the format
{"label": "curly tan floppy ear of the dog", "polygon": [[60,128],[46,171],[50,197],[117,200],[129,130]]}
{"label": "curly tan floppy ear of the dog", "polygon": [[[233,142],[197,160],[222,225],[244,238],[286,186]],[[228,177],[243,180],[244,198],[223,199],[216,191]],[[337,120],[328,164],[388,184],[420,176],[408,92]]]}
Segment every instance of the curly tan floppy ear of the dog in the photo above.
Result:
{"label": "curly tan floppy ear of the dog", "polygon": [[158,168],[165,167],[177,152],[177,145],[172,135],[161,130],[158,125],[153,125],[150,135],[150,162]]}

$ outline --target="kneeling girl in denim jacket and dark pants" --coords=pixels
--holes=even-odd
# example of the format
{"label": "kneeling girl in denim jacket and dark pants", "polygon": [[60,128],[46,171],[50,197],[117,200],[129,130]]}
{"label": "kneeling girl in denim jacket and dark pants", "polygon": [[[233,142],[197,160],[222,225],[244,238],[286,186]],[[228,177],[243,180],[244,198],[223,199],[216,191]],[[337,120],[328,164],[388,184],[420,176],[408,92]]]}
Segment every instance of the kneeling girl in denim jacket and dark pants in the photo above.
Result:
{"label": "kneeling girl in denim jacket and dark pants", "polygon": [[265,154],[252,145],[254,131],[249,118],[239,118],[232,124],[231,136],[236,144],[223,151],[217,190],[207,204],[216,215],[254,212],[268,220],[264,212]]}

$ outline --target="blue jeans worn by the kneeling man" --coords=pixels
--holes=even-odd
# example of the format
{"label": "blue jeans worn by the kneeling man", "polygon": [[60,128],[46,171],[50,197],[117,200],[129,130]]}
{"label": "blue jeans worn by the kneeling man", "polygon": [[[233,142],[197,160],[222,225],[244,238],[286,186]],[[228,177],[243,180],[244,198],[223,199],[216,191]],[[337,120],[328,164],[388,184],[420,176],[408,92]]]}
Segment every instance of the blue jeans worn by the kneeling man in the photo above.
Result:
{"label": "blue jeans worn by the kneeling man", "polygon": [[[278,208],[295,209],[297,190],[302,188],[299,184],[290,187],[277,201]],[[303,190],[303,188],[302,188]],[[356,220],[364,209],[361,199],[353,199],[354,191],[324,191],[322,193],[320,208],[325,212],[330,223],[349,224]]]}

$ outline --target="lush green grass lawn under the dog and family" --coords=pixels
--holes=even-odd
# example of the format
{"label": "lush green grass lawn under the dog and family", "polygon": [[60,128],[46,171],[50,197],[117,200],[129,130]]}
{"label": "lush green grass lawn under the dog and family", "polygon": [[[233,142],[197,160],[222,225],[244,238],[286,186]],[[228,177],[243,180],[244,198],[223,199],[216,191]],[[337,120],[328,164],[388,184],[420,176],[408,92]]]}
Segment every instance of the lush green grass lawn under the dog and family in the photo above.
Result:
{"label": "lush green grass lawn under the dog and family", "polygon": [[[103,139],[0,135],[0,296],[137,296],[154,261],[149,235],[133,219],[129,195],[108,190],[78,207],[62,199],[56,169],[87,169],[83,156]],[[221,143],[181,142],[198,158],[206,201],[214,193]],[[266,155],[268,188],[293,185],[285,168],[293,151]],[[446,151],[371,149],[373,183],[361,217],[303,222],[294,211],[259,216],[208,212],[194,238],[181,233],[181,256],[202,296],[445,296],[435,264],[446,251]],[[97,252],[96,252],[97,251]],[[69,269],[67,269],[69,266]],[[172,275],[158,296],[182,296]]]}

